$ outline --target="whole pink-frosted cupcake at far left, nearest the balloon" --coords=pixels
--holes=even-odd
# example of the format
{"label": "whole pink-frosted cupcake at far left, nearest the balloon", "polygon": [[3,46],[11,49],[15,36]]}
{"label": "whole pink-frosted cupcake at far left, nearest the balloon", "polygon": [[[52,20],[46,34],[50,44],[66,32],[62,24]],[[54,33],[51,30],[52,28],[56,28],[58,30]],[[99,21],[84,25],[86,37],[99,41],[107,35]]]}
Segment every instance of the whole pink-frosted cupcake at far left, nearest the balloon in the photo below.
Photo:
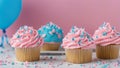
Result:
{"label": "whole pink-frosted cupcake at far left, nearest the balloon", "polygon": [[40,56],[40,47],[43,39],[33,27],[22,26],[10,39],[10,44],[15,48],[18,61],[37,61]]}

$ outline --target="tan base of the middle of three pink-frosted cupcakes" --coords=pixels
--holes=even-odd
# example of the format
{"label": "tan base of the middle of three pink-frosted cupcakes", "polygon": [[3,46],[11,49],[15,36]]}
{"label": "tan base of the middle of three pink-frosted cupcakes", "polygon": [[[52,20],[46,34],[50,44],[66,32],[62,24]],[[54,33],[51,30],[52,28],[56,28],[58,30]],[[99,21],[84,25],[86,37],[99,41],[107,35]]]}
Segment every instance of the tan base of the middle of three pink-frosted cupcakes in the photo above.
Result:
{"label": "tan base of the middle of three pink-frosted cupcakes", "polygon": [[91,49],[65,49],[66,61],[75,64],[92,61]]}

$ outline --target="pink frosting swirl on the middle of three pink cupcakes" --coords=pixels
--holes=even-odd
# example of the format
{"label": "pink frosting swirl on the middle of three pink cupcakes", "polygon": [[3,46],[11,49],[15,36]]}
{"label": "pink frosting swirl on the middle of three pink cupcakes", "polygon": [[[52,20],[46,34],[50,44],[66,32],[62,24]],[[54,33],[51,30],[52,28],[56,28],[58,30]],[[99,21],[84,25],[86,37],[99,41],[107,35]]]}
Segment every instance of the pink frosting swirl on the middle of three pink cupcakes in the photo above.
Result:
{"label": "pink frosting swirl on the middle of three pink cupcakes", "polygon": [[94,46],[93,39],[91,36],[83,29],[72,27],[71,31],[64,37],[62,47],[65,49],[89,49]]}

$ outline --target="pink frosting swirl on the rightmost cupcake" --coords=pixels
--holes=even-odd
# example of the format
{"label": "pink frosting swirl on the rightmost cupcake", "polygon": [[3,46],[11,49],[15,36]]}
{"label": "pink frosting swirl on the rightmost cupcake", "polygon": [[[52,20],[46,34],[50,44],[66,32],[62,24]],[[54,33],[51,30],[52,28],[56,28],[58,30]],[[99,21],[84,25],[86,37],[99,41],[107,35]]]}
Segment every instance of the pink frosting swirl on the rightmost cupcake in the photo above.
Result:
{"label": "pink frosting swirl on the rightmost cupcake", "polygon": [[120,44],[120,34],[109,23],[104,23],[95,31],[93,35],[95,44],[107,46],[110,44]]}

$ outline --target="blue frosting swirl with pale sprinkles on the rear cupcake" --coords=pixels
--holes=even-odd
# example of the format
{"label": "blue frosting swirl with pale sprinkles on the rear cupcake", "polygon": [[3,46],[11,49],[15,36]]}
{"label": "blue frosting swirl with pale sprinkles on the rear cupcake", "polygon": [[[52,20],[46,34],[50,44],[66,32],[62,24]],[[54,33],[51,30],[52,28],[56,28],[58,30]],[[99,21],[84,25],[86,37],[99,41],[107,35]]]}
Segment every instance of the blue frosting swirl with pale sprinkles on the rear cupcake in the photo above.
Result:
{"label": "blue frosting swirl with pale sprinkles on the rear cupcake", "polygon": [[48,22],[46,25],[39,28],[38,33],[44,38],[44,42],[61,43],[64,37],[62,29],[52,22]]}

